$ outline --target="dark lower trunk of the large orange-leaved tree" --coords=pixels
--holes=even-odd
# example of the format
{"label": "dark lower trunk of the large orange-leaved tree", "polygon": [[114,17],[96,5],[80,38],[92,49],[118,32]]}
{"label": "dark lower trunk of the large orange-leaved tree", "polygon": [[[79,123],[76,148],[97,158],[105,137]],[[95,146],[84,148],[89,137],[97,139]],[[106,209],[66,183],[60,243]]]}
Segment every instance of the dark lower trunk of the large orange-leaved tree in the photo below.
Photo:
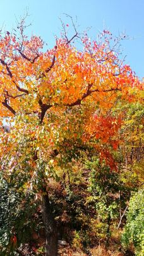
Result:
{"label": "dark lower trunk of the large orange-leaved tree", "polygon": [[42,196],[42,218],[46,236],[46,256],[57,256],[57,227],[51,210],[51,203],[47,192]]}

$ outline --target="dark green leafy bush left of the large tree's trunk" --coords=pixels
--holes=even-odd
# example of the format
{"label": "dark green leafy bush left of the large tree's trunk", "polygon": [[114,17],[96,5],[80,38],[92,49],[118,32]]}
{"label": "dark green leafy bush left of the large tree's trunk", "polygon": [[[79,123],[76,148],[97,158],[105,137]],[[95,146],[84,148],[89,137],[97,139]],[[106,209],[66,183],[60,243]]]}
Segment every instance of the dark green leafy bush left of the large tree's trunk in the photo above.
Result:
{"label": "dark green leafy bush left of the large tree's trunk", "polygon": [[41,215],[37,211],[37,202],[32,193],[25,195],[3,178],[0,196],[0,252],[1,255],[13,255],[13,251],[22,243],[32,240],[34,230],[42,227]]}

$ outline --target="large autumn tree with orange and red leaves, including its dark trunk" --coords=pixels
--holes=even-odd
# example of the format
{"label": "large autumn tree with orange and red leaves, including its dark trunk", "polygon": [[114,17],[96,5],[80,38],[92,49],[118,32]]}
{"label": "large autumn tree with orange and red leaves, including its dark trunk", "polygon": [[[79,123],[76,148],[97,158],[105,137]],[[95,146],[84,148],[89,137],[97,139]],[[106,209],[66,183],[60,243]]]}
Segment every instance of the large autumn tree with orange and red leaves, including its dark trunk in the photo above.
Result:
{"label": "large autumn tree with orange and red leaves, including its dark trunk", "polygon": [[[49,200],[51,179],[61,183],[71,163],[80,162],[92,149],[111,170],[117,168],[112,151],[119,143],[116,134],[122,118],[111,109],[119,98],[132,100],[141,82],[119,60],[117,47],[125,35],[112,41],[111,32],[104,30],[98,41],[91,42],[73,23],[75,32],[69,39],[68,25],[63,24],[54,48],[44,51],[40,37],[28,39],[26,27],[22,19],[19,35],[0,35],[0,115],[13,124],[9,134],[1,130],[1,172],[25,193],[35,191],[46,252],[54,256],[57,227]],[[76,49],[76,39],[82,50]],[[20,176],[25,177],[21,182]]]}

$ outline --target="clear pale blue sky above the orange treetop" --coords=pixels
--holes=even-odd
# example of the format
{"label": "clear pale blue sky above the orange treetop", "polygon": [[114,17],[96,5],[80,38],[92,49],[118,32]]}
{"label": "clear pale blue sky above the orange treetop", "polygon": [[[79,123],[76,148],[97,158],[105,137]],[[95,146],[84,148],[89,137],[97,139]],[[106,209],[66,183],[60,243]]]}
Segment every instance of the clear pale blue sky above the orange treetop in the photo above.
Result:
{"label": "clear pale blue sky above the orange treetop", "polygon": [[136,75],[144,77],[144,0],[0,0],[0,27],[4,24],[6,30],[11,30],[15,16],[23,15],[26,7],[32,22],[30,32],[40,35],[49,46],[61,28],[58,17],[66,21],[63,13],[77,16],[81,31],[92,27],[92,37],[104,26],[114,35],[125,30],[134,38],[123,41],[126,63]]}

